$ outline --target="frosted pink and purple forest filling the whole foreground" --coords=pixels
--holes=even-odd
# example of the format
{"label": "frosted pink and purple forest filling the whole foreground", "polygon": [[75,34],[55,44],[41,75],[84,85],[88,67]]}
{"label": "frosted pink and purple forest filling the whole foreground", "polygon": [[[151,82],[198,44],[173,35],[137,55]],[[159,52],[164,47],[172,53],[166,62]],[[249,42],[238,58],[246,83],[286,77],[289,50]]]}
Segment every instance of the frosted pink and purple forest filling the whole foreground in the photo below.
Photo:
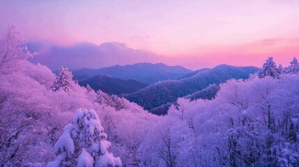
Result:
{"label": "frosted pink and purple forest filling the whole foreground", "polygon": [[30,63],[24,42],[15,26],[1,35],[0,166],[299,166],[296,58],[156,116]]}

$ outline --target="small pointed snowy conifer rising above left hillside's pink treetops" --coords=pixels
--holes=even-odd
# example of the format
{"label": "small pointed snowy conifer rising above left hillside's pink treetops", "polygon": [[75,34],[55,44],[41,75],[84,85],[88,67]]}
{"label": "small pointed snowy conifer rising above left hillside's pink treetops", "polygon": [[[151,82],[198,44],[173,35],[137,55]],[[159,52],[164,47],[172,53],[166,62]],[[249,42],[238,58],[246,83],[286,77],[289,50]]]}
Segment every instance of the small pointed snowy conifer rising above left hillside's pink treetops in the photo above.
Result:
{"label": "small pointed snowy conifer rising above left hillside's pink treetops", "polygon": [[64,90],[68,92],[72,88],[72,82],[72,72],[67,67],[61,67],[51,88],[53,91]]}

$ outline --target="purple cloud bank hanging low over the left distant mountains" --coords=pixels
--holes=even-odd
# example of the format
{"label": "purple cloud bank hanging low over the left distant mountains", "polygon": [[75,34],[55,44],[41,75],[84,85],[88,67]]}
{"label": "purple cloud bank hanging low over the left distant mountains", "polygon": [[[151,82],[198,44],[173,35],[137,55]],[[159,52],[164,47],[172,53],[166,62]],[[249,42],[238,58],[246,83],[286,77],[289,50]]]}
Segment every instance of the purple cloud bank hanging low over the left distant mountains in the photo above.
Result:
{"label": "purple cloud bank hanging low over the left distant mountains", "polygon": [[120,42],[105,42],[101,45],[80,42],[69,46],[29,42],[26,46],[29,50],[40,53],[29,61],[47,65],[52,70],[58,69],[61,65],[72,69],[100,68],[140,62],[158,63],[160,60],[160,56],[151,51],[132,49]]}

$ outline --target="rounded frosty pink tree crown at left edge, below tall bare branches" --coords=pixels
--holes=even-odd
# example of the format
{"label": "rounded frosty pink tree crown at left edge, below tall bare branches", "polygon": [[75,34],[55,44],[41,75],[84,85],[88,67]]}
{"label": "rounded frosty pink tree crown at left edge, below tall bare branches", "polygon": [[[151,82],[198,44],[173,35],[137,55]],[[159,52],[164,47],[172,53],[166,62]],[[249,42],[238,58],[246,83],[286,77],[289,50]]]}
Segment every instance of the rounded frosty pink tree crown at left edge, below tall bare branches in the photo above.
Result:
{"label": "rounded frosty pink tree crown at left edge, below tall bare branches", "polygon": [[29,145],[39,145],[45,135],[51,111],[45,94],[40,83],[22,72],[0,74],[0,166],[24,166],[38,154]]}

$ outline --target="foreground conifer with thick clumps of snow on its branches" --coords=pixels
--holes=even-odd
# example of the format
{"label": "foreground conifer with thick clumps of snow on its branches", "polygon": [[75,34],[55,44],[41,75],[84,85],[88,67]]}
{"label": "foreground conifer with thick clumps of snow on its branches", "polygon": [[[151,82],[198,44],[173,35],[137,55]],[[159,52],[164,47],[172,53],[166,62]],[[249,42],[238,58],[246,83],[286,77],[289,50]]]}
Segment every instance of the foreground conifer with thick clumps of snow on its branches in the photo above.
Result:
{"label": "foreground conifer with thick clumps of snow on its branches", "polygon": [[54,145],[55,161],[47,166],[121,166],[121,159],[108,152],[111,145],[93,110],[78,109]]}

